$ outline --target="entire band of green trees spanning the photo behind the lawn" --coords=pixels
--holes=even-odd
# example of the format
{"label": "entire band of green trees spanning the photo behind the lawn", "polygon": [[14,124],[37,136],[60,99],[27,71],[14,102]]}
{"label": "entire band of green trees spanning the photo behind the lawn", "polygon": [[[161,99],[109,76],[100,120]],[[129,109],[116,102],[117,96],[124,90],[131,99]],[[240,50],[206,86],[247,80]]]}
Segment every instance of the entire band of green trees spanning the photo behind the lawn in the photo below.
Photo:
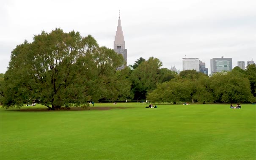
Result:
{"label": "entire band of green trees spanning the photo behind the lawn", "polygon": [[88,101],[255,102],[256,66],[211,77],[196,71],[179,75],[162,62],[140,57],[121,71],[121,54],[100,47],[91,36],[56,28],[35,35],[11,52],[8,71],[0,75],[0,102],[6,108],[41,103],[48,108],[83,106]]}

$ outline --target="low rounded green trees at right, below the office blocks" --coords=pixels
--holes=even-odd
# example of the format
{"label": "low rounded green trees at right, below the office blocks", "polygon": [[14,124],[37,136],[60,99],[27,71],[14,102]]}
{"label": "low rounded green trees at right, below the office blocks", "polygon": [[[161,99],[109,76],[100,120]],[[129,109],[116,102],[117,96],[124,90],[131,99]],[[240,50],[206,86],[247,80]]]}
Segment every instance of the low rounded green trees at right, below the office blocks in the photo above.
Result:
{"label": "low rounded green trees at right, below the office blocks", "polygon": [[152,102],[169,103],[192,100],[201,103],[255,102],[256,86],[249,79],[253,71],[256,79],[255,64],[248,66],[246,71],[235,67],[231,72],[215,73],[211,77],[195,70],[182,71],[175,79],[158,84],[147,98]]}

